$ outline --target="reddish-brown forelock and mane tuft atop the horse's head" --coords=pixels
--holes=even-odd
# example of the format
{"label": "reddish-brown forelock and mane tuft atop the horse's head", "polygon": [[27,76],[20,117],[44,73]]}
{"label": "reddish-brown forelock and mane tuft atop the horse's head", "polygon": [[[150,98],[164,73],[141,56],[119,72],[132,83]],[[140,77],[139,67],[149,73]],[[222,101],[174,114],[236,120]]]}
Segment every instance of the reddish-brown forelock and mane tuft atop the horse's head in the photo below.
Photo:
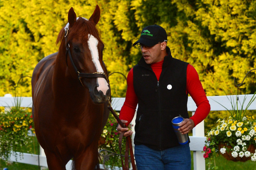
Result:
{"label": "reddish-brown forelock and mane tuft atop the horse's head", "polygon": [[[56,45],[61,42],[61,44],[63,43],[62,41],[64,39],[64,34],[65,34],[65,30],[64,30],[65,26],[62,27],[61,31],[58,34],[57,40],[56,40]],[[102,42],[102,39],[99,35],[98,29],[96,27],[96,24],[91,22],[91,21],[87,21],[86,19],[83,19],[81,17],[79,17],[77,19],[77,21],[75,22],[75,24],[69,29],[69,34],[67,36],[67,41],[69,41],[72,37],[87,37],[88,34],[93,35],[98,41]],[[65,43],[65,42],[64,42]]]}

